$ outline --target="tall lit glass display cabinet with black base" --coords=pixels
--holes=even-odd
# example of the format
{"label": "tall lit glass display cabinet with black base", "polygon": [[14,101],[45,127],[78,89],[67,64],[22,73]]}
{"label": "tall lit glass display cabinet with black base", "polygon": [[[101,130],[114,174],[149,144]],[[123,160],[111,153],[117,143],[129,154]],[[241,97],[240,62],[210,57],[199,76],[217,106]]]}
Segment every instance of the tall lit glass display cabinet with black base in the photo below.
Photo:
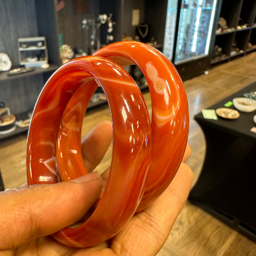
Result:
{"label": "tall lit glass display cabinet with black base", "polygon": [[209,66],[217,4],[218,0],[168,0],[163,54],[183,80]]}

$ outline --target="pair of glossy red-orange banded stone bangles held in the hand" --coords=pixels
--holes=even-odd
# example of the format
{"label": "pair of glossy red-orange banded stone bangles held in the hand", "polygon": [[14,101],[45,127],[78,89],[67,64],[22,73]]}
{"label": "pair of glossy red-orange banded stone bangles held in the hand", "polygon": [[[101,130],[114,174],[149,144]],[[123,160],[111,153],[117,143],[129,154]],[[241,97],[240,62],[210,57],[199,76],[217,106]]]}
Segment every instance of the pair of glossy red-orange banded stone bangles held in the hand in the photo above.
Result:
{"label": "pair of glossy red-orange banded stone bangles held in the hand", "polygon": [[[120,66],[136,64],[152,98],[152,127],[143,96]],[[89,100],[101,86],[112,116],[113,155],[108,183],[93,214],[75,228],[52,236],[89,247],[106,241],[150,205],[174,178],[185,152],[188,104],[172,63],[140,42],[117,42],[94,56],[76,58],[48,80],[36,103],[28,137],[29,184],[58,182],[87,174],[81,126]]]}

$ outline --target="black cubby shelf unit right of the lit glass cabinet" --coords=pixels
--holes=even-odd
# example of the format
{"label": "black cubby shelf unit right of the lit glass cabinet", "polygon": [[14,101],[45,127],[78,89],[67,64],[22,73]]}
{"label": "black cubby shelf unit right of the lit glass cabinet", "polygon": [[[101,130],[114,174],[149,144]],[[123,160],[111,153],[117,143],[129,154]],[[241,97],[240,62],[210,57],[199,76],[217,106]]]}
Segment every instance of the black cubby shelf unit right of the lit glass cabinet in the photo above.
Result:
{"label": "black cubby shelf unit right of the lit glass cabinet", "polygon": [[[224,17],[227,21],[227,26],[235,30],[216,34],[219,17]],[[241,22],[246,24],[247,27],[238,29],[237,26]],[[215,35],[212,37],[214,44],[211,45],[211,53],[214,46],[218,45],[226,56],[218,59],[211,57],[209,66],[226,62],[254,51],[256,49],[256,1],[220,0],[214,33]],[[248,48],[248,42],[251,42],[252,48]],[[235,44],[243,52],[230,55]]]}

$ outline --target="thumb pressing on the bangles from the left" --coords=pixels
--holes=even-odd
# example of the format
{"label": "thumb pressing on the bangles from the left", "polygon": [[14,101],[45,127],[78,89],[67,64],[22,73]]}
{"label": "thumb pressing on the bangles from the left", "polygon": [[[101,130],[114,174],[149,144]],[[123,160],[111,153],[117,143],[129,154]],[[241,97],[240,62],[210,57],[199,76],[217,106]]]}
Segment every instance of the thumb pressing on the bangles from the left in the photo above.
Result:
{"label": "thumb pressing on the bangles from the left", "polygon": [[80,220],[100,196],[98,172],[71,182],[24,186],[0,193],[0,250],[44,237]]}

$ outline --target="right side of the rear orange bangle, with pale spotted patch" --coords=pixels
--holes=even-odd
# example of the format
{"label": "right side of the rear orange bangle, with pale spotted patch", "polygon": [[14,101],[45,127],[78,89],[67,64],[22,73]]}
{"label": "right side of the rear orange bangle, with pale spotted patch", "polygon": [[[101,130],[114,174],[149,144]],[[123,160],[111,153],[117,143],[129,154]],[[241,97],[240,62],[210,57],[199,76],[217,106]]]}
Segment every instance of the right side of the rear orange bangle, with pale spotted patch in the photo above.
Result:
{"label": "right side of the rear orange bangle, with pale spotted patch", "polygon": [[188,103],[180,76],[162,53],[140,42],[116,42],[95,56],[120,66],[136,64],[146,78],[152,100],[152,161],[137,212],[150,205],[173,180],[182,161],[189,127]]}

